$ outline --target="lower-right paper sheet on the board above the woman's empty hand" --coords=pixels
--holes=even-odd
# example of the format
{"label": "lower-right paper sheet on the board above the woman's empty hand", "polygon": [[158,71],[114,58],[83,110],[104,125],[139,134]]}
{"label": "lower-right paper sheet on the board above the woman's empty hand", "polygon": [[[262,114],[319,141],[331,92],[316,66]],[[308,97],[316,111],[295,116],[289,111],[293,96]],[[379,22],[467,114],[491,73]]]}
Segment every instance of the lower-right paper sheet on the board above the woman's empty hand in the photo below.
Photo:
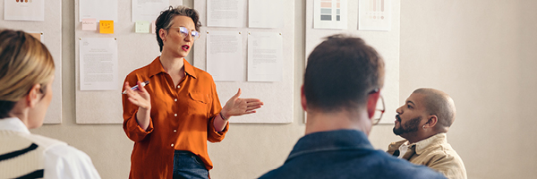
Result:
{"label": "lower-right paper sheet on the board above the woman's empty hand", "polygon": [[278,32],[249,32],[248,81],[282,81],[283,47]]}

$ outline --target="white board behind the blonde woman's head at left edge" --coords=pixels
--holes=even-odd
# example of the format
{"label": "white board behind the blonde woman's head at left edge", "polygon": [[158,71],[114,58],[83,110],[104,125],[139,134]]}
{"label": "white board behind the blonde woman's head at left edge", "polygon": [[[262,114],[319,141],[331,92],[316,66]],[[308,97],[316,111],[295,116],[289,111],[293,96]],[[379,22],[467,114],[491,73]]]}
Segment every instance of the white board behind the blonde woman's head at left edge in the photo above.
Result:
{"label": "white board behind the blonde woman's head at left edge", "polygon": [[[0,3],[0,14],[4,14],[4,1]],[[0,29],[42,32],[41,42],[54,58],[55,80],[52,83],[52,101],[47,109],[44,124],[62,123],[62,1],[45,1],[45,21],[4,21],[0,19]]]}

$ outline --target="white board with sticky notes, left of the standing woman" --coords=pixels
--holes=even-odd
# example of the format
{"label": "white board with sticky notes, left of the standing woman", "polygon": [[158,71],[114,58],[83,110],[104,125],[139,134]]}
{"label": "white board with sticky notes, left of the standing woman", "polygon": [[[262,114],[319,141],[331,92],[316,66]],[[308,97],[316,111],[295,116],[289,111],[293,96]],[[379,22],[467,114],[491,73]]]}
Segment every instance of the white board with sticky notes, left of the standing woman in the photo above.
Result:
{"label": "white board with sticky notes, left of the standing woman", "polygon": [[[130,72],[150,64],[158,55],[157,35],[135,33],[132,22],[132,0],[118,0],[118,18],[114,23],[114,34],[99,34],[97,31],[83,31],[79,21],[79,0],[74,3],[74,45],[75,45],[75,104],[77,124],[123,124],[121,90],[125,76]],[[182,0],[170,0],[173,6],[183,4]],[[118,50],[119,79],[117,90],[81,90],[80,47],[81,38],[116,38]]]}

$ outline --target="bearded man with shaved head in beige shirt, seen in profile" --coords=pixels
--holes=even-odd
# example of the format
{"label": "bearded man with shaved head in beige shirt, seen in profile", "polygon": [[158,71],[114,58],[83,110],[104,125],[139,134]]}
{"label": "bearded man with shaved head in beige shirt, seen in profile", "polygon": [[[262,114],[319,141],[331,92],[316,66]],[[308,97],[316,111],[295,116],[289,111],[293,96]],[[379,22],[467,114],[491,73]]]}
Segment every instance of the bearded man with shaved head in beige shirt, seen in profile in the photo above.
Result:
{"label": "bearded man with shaved head in beige shirt, seen in profile", "polygon": [[389,154],[429,166],[447,178],[466,178],[463,160],[446,139],[456,115],[455,103],[449,95],[434,89],[414,90],[396,112],[393,131],[405,140],[391,143]]}

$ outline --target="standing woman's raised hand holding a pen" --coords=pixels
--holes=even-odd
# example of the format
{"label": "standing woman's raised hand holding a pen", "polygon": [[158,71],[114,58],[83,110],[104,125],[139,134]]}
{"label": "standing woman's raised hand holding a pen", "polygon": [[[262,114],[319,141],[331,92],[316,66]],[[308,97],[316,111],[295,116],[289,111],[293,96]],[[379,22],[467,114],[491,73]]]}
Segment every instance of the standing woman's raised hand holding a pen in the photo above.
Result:
{"label": "standing woman's raised hand holding a pen", "polygon": [[138,106],[136,121],[143,130],[149,127],[149,115],[151,112],[151,96],[145,87],[138,81],[138,90],[131,90],[129,82],[125,82],[124,89],[127,91],[127,97],[132,104]]}

